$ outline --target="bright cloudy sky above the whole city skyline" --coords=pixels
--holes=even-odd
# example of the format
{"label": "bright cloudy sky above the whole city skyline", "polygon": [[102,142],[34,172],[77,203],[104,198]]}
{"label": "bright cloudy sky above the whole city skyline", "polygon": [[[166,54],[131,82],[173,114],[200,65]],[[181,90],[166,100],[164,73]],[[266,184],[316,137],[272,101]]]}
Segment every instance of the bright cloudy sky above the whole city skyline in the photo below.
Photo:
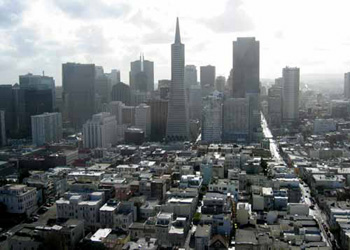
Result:
{"label": "bright cloudy sky above the whole city skyline", "polygon": [[[62,63],[119,69],[128,83],[140,53],[155,80],[170,79],[170,46],[180,19],[185,63],[228,76],[232,42],[260,41],[260,77],[285,66],[302,74],[350,71],[348,0],[0,0],[0,84],[31,72],[61,85]],[[199,75],[198,75],[199,78]]]}

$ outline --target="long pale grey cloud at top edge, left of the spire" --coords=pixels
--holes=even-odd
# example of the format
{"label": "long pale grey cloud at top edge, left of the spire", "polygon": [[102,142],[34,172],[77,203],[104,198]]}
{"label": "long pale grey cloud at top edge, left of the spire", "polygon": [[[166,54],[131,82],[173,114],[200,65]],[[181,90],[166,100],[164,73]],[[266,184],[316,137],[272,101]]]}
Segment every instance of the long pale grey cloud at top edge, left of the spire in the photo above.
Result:
{"label": "long pale grey cloud at top edge, left of the spire", "polygon": [[53,0],[65,14],[78,19],[119,18],[129,12],[124,3],[106,4],[102,0]]}

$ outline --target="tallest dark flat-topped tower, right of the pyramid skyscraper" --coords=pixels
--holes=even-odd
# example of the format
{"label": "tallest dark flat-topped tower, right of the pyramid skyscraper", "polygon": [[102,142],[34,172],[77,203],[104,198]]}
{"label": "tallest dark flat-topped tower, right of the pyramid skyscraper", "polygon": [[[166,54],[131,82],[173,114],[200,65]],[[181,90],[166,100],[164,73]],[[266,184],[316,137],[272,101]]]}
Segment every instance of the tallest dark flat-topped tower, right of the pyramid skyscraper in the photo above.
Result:
{"label": "tallest dark flat-topped tower, right of the pyramid skyscraper", "polygon": [[233,42],[232,97],[249,99],[249,141],[256,139],[260,121],[260,45],[254,37]]}

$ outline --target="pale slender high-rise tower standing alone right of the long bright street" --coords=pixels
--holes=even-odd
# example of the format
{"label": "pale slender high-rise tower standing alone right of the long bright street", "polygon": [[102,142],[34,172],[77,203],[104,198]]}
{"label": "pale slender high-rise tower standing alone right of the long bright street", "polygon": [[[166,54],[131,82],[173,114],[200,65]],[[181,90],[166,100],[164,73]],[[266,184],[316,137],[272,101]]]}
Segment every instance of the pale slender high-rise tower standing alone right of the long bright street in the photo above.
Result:
{"label": "pale slender high-rise tower standing alone right of the long bright street", "polygon": [[283,69],[283,121],[297,122],[299,120],[299,68]]}

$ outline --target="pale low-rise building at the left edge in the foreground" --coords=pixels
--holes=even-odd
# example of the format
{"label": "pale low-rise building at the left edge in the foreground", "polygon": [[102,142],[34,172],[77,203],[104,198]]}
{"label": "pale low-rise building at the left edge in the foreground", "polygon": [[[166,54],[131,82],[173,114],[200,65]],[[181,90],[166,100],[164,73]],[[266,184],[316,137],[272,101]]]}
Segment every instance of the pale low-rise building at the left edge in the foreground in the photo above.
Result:
{"label": "pale low-rise building at the left edge in the foreground", "polygon": [[37,191],[26,185],[7,184],[0,187],[0,202],[8,213],[30,215],[37,208]]}

